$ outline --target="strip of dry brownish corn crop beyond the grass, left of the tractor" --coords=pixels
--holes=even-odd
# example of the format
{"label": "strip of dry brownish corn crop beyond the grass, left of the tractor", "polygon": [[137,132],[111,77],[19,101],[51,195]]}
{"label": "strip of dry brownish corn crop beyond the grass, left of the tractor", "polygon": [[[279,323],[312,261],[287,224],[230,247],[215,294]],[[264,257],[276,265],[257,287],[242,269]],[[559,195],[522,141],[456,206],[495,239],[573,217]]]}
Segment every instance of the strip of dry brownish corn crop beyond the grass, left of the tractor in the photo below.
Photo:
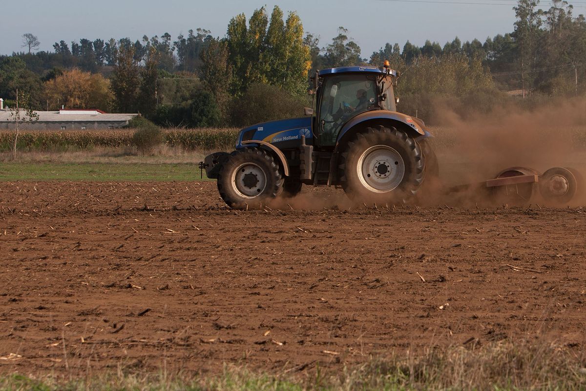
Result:
{"label": "strip of dry brownish corn crop beyond the grass, left of the tractor", "polygon": [[[232,149],[238,135],[236,128],[166,129],[165,144],[186,150]],[[91,149],[93,147],[130,147],[132,129],[108,130],[43,130],[21,131],[17,149],[21,151],[45,151],[51,149]],[[12,149],[15,132],[0,131],[0,151]]]}

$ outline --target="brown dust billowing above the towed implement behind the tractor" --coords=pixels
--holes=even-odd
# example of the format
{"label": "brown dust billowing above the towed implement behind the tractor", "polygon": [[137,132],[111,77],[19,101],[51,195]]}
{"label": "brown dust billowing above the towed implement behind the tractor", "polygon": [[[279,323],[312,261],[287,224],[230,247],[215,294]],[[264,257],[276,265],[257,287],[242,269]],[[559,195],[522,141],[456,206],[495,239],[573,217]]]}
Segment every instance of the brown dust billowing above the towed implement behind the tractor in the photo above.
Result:
{"label": "brown dust billowing above the towed implement behind the tractor", "polygon": [[[586,100],[557,100],[531,111],[513,104],[466,119],[440,103],[436,113],[442,125],[432,127],[431,143],[444,186],[486,181],[514,166],[539,174],[553,167],[586,171]],[[571,203],[586,200],[586,192],[578,190]],[[475,196],[456,196],[455,203],[472,201]],[[440,201],[444,200],[445,196]],[[479,200],[494,202],[490,196],[481,195]],[[448,194],[447,201],[454,199]]]}

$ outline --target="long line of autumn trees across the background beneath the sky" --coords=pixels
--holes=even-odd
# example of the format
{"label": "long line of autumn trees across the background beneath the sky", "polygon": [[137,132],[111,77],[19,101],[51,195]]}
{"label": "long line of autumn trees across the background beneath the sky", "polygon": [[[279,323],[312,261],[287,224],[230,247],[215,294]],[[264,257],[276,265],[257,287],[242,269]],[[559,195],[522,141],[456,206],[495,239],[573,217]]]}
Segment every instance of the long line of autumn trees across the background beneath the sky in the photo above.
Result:
{"label": "long line of autumn trees across the background beneath the sky", "polygon": [[27,52],[0,56],[0,97],[8,104],[16,88],[38,109],[96,107],[139,112],[175,127],[243,125],[298,115],[308,104],[308,76],[317,69],[388,59],[403,72],[400,110],[430,119],[432,101],[479,110],[509,99],[502,91],[532,98],[574,96],[586,87],[586,20],[566,1],[539,8],[519,0],[513,31],[440,45],[385,43],[369,58],[347,29],[326,45],[304,32],[295,12],[257,9],[240,14],[223,37],[189,30],[141,40],[63,40],[53,52],[34,52],[39,40],[23,35]]}

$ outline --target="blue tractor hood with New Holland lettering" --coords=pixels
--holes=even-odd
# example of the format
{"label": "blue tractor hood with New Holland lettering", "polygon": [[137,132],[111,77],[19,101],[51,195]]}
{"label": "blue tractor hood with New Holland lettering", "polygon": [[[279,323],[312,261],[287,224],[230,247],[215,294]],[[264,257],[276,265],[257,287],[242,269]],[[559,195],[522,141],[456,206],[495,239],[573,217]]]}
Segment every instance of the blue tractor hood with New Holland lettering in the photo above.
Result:
{"label": "blue tractor hood with New Holland lettering", "polygon": [[288,141],[299,143],[302,136],[305,136],[307,144],[312,144],[311,121],[312,117],[301,117],[252,125],[240,131],[236,148],[243,147],[243,141],[251,140],[270,144],[281,144]]}

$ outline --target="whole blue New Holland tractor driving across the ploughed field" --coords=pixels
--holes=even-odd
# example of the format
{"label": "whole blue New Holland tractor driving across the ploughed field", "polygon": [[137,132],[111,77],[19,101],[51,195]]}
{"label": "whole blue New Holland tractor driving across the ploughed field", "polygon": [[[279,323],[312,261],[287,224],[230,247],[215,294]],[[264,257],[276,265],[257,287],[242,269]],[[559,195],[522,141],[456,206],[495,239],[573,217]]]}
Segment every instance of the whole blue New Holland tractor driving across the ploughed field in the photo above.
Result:
{"label": "whole blue New Holland tractor driving across the ploughed field", "polygon": [[423,121],[397,112],[397,76],[388,62],[316,72],[305,117],[244,128],[235,151],[208,155],[200,168],[236,209],[297,195],[302,185],[341,186],[371,204],[412,199],[426,171],[437,175],[437,159]]}

